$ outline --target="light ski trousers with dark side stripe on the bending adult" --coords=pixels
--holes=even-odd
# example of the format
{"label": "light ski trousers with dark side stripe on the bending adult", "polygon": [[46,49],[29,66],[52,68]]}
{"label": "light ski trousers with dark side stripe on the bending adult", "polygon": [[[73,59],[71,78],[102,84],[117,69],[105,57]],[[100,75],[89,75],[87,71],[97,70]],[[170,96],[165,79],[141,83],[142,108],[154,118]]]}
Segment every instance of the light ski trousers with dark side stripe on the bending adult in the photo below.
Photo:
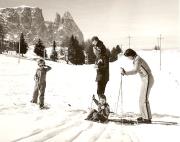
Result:
{"label": "light ski trousers with dark side stripe on the bending adult", "polygon": [[142,85],[141,85],[141,94],[139,98],[139,108],[142,118],[151,119],[151,109],[149,104],[149,94],[151,88],[154,84],[154,78],[152,75],[147,75],[145,77],[141,77]]}

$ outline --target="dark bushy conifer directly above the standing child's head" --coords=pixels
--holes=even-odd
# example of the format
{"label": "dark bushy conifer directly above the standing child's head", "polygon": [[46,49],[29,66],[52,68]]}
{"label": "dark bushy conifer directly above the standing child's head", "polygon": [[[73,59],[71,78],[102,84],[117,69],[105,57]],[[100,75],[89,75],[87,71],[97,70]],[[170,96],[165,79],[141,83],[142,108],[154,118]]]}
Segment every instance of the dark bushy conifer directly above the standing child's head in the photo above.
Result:
{"label": "dark bushy conifer directly above the standing child's head", "polygon": [[38,42],[35,44],[34,53],[36,53],[37,56],[40,56],[43,58],[47,57],[46,49],[41,39],[39,39]]}

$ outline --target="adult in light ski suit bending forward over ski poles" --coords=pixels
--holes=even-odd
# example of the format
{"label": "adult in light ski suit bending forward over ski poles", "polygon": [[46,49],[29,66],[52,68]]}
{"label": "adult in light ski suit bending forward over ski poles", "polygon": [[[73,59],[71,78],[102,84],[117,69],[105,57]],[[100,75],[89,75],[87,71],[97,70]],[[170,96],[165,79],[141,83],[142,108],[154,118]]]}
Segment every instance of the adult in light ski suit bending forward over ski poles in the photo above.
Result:
{"label": "adult in light ski suit bending forward over ski poles", "polygon": [[137,53],[132,49],[127,49],[124,53],[124,56],[128,57],[130,60],[133,60],[134,69],[131,71],[126,71],[122,68],[122,75],[134,75],[139,73],[142,81],[141,94],[139,98],[139,107],[141,117],[137,118],[138,122],[142,123],[151,123],[152,115],[149,104],[149,94],[150,90],[154,84],[154,77],[151,73],[151,69]]}

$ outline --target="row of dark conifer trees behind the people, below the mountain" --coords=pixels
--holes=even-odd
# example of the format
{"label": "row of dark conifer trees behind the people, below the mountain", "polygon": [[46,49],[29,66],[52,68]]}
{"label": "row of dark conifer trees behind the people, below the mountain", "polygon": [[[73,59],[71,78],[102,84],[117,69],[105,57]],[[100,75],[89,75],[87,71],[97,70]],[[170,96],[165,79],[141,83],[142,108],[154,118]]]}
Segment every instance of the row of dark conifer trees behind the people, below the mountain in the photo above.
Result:
{"label": "row of dark conifer trees behind the people, below the mountain", "polygon": [[[63,54],[64,56],[67,56],[65,60],[70,61],[72,64],[82,65],[85,63],[85,61],[88,61],[86,62],[88,64],[93,64],[95,61],[95,55],[93,53],[91,40],[87,40],[83,43],[79,43],[78,39],[72,35],[71,37],[65,37],[60,46],[64,48],[64,50],[60,51],[60,53]],[[16,52],[20,53],[22,56],[23,54],[26,54],[26,52],[28,51],[28,44],[25,41],[23,33],[21,33],[20,35],[20,46],[19,46],[19,42],[16,42],[15,47],[16,47]],[[56,47],[57,47],[57,43],[56,41],[53,41],[52,51],[49,57],[49,59],[52,61],[58,61],[58,51]],[[112,48],[111,51],[107,49],[107,54],[109,56],[110,62],[116,61],[118,58],[117,55],[121,52],[122,49],[119,47],[119,45]],[[39,39],[35,43],[34,53],[37,56],[46,59],[48,58],[46,47],[41,39]]]}

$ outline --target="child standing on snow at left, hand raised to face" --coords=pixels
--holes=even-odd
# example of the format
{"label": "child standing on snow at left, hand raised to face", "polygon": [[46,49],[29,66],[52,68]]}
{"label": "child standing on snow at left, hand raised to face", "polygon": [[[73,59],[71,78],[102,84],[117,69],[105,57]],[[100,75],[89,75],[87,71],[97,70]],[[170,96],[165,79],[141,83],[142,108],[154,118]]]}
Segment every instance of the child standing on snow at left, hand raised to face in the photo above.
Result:
{"label": "child standing on snow at left, hand raised to face", "polygon": [[39,96],[39,107],[40,109],[44,108],[44,93],[46,89],[46,73],[51,70],[50,66],[45,65],[45,61],[40,59],[38,61],[39,68],[36,70],[36,74],[34,76],[35,80],[35,88],[33,92],[32,103],[37,103],[37,99]]}

